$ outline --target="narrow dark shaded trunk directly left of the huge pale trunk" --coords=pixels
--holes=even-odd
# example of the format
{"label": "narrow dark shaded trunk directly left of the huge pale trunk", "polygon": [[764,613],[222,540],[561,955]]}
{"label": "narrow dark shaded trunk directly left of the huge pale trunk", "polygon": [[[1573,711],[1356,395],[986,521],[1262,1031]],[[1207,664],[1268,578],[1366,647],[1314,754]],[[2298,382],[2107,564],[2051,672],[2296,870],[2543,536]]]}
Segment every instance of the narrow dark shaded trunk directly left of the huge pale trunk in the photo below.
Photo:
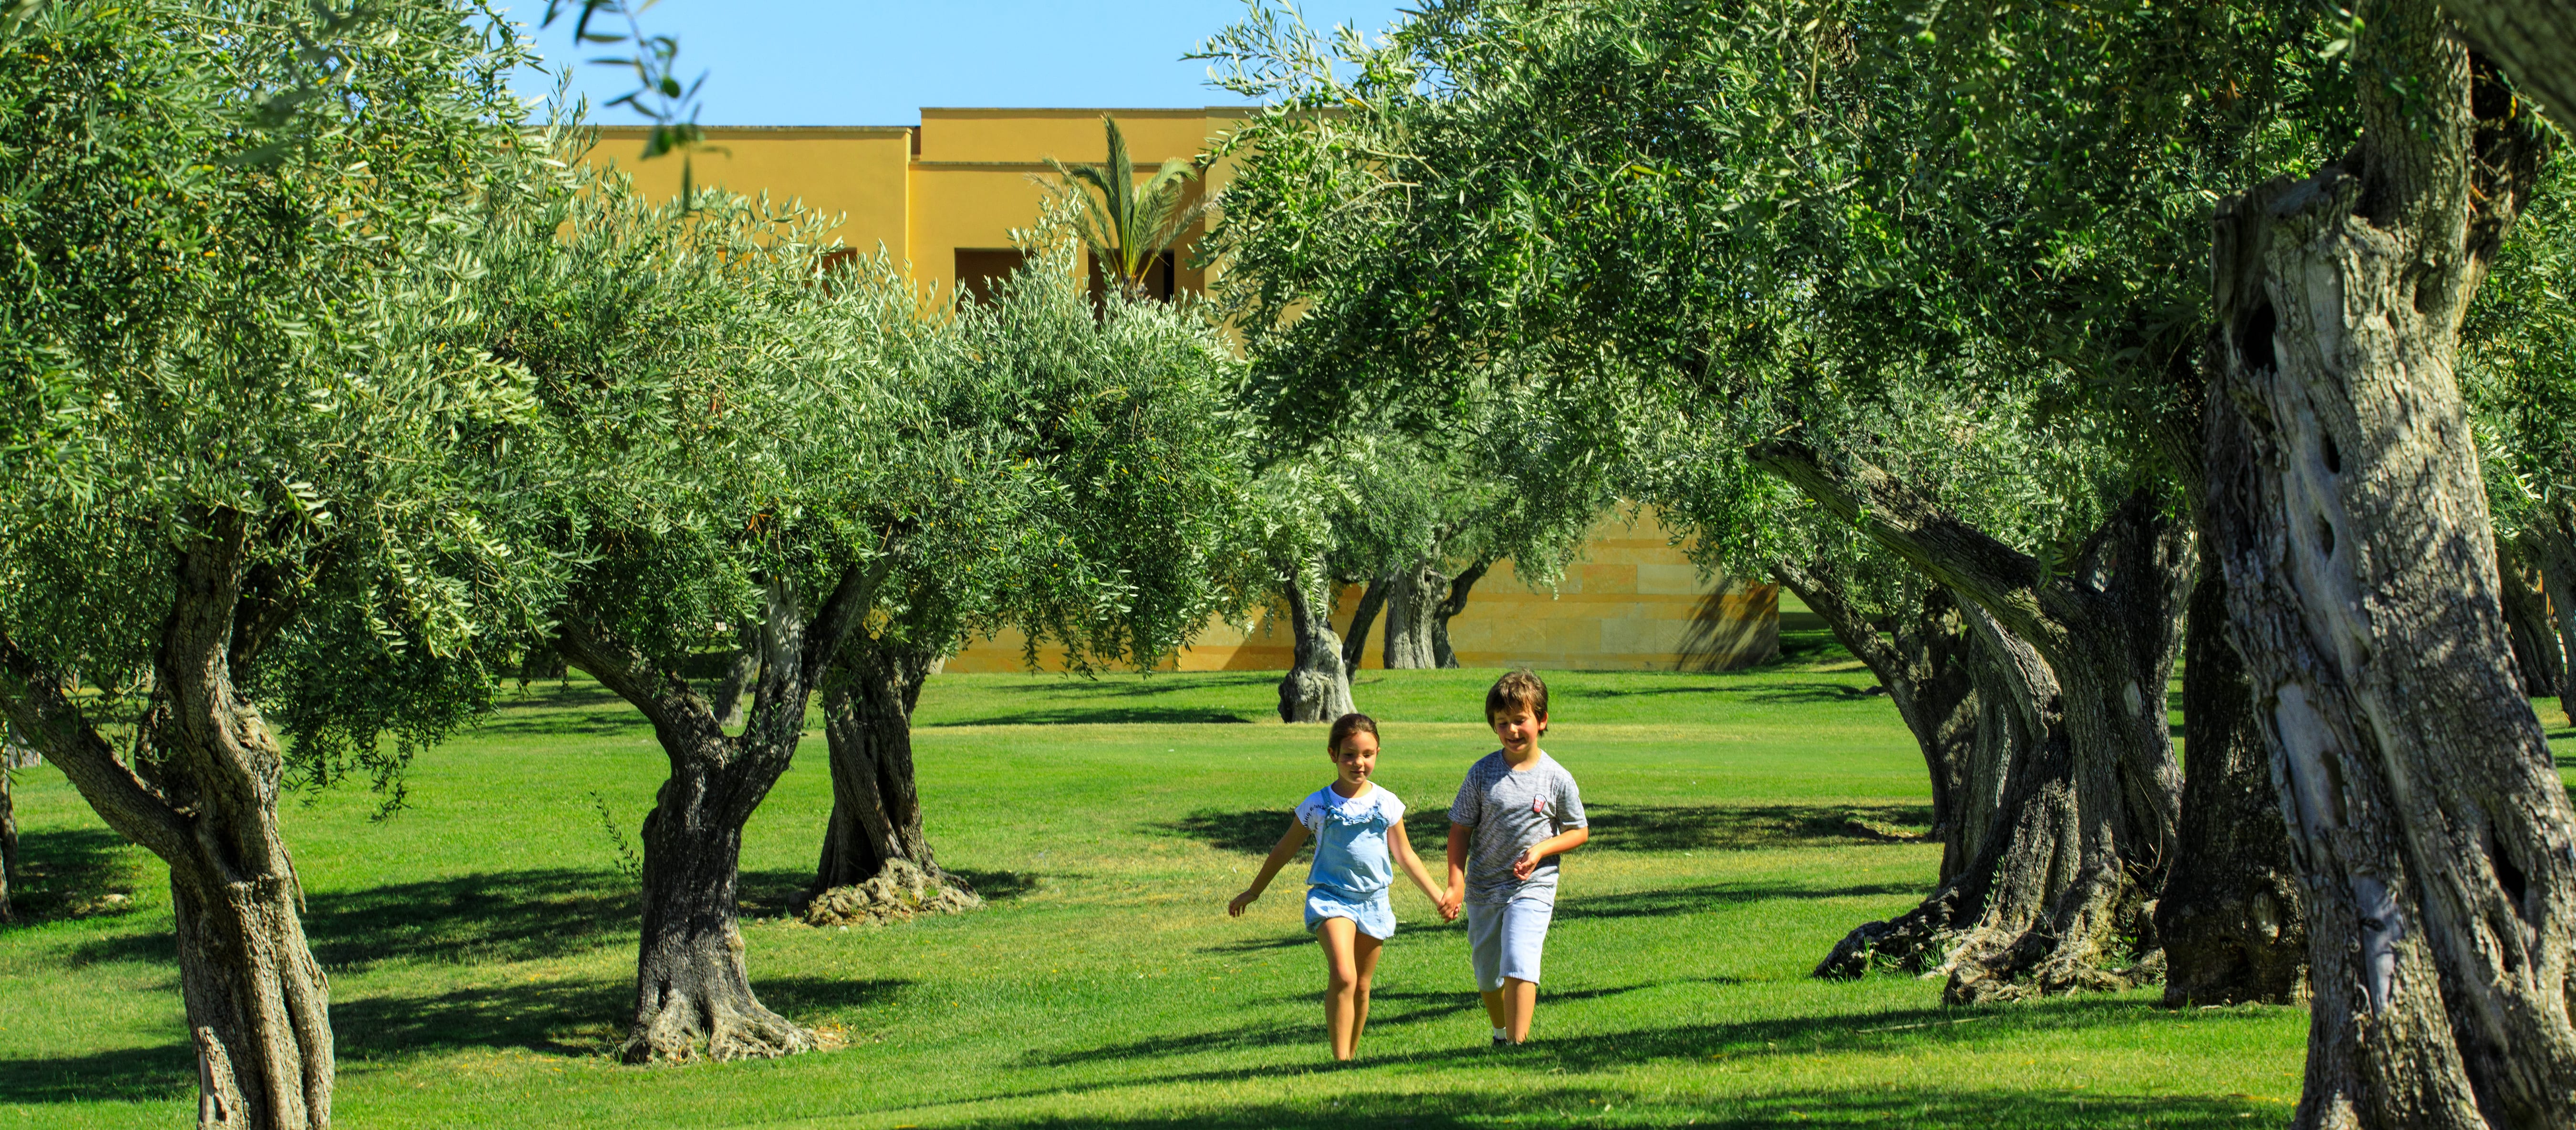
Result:
{"label": "narrow dark shaded trunk directly left of the huge pale trunk", "polygon": [[2308,903],[2244,659],[2226,631],[2226,574],[2205,561],[2184,628],[2182,855],[2156,901],[2172,1006],[2308,996]]}

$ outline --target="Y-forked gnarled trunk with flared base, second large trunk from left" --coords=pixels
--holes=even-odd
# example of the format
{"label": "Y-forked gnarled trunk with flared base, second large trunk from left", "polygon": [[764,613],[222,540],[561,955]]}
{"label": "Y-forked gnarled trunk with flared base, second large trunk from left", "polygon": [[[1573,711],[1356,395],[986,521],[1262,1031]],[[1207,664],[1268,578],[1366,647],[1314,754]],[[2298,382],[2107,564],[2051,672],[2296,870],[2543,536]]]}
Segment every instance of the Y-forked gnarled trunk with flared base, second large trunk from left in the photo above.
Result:
{"label": "Y-forked gnarled trunk with flared base, second large trunk from left", "polygon": [[564,656],[641,710],[670,759],[670,780],[644,816],[644,937],[634,1022],[621,1050],[629,1063],[814,1048],[811,1032],[752,996],[742,965],[734,906],[742,826],[796,757],[814,672],[858,623],[881,569],[845,571],[811,613],[791,582],[770,582],[760,682],[739,736],[716,726],[714,703],[698,698],[683,672],[603,628],[580,595],[569,602]]}

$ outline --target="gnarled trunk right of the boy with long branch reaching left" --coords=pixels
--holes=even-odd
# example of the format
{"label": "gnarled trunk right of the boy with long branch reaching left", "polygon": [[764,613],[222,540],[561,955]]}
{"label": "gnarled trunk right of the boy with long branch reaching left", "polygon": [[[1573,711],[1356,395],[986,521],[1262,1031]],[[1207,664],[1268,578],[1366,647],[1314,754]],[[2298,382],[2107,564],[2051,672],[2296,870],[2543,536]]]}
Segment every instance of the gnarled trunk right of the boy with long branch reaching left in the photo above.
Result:
{"label": "gnarled trunk right of the boy with long branch reaching left", "polygon": [[[2141,492],[2087,538],[2071,574],[2053,574],[1875,466],[1834,468],[1798,443],[1767,443],[1752,458],[1994,618],[2043,659],[2053,685],[2027,690],[2040,698],[2030,713],[2063,723],[2071,826],[2038,811],[2014,826],[2012,837],[2048,837],[2053,847],[2004,852],[1986,919],[1945,958],[1947,996],[1986,1001],[2133,983],[2123,940],[2154,950],[2146,909],[2172,867],[2182,806],[2164,685],[2190,582],[2187,525]],[[2038,731],[2032,757],[2045,762],[2048,728]],[[2009,793],[2025,785],[2035,788],[2012,780]],[[2032,893],[2048,898],[2048,911],[2025,919],[2020,901]]]}

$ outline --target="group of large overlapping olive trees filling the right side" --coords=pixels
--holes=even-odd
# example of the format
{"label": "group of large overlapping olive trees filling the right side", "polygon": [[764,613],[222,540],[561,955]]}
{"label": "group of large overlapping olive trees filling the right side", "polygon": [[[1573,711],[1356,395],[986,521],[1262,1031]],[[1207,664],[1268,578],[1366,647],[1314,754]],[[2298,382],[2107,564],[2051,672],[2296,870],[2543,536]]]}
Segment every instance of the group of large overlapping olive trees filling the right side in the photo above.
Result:
{"label": "group of large overlapping olive trees filling the right side", "polygon": [[1224,306],[1280,435],[1528,420],[1880,674],[1942,885],[1819,976],[2311,996],[2300,1125],[2568,1125],[2496,561],[2576,577],[2576,75],[2458,8],[2506,69],[2432,0],[1257,3]]}

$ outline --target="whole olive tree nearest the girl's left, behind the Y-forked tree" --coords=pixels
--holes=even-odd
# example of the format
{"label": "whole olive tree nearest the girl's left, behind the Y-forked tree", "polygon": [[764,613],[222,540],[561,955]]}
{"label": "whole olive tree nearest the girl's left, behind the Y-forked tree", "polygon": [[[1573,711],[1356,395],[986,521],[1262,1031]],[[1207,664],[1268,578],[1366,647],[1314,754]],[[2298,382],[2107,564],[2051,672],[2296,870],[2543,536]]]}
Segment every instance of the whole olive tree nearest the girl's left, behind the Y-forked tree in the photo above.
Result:
{"label": "whole olive tree nearest the girl's left, behind the Y-forked tree", "polygon": [[[824,680],[832,821],[814,893],[894,862],[956,883],[922,831],[909,726],[922,677],[969,636],[1018,628],[1030,667],[1051,649],[1077,674],[1151,669],[1270,587],[1249,541],[1242,363],[1224,337],[1190,304],[1128,293],[1095,317],[1079,245],[1054,216],[1023,245],[1028,263],[992,301],[920,324],[922,345],[884,376],[945,427],[981,435],[987,468],[894,548]],[[922,317],[925,299],[881,260],[827,286],[848,291],[832,319]]]}

